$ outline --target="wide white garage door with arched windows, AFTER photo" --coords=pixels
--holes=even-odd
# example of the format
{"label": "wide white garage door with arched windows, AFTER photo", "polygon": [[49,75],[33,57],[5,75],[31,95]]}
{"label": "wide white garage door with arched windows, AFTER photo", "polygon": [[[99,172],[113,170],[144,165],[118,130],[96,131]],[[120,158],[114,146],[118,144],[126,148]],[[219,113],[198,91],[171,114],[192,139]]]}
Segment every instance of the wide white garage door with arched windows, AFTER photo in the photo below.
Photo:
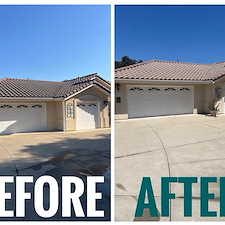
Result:
{"label": "wide white garage door with arched windows, AFTER photo", "polygon": [[128,86],[128,117],[193,113],[192,86]]}

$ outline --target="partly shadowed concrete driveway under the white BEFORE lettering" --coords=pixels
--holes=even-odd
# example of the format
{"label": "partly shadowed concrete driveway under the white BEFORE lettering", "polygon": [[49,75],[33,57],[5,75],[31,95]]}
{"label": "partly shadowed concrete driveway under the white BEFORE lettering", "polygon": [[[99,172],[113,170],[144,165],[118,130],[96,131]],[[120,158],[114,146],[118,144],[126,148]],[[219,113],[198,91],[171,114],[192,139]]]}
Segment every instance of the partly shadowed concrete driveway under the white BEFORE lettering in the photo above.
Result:
{"label": "partly shadowed concrete driveway under the white BEFORE lettering", "polygon": [[[78,176],[86,182],[87,176],[104,175],[99,184],[103,200],[99,208],[105,209],[104,218],[81,218],[80,220],[110,219],[110,129],[80,132],[37,132],[0,136],[0,175],[51,175],[58,183],[61,176]],[[11,187],[13,189],[14,187]],[[28,187],[32,189],[33,186]],[[101,189],[101,190],[100,190]],[[11,190],[13,193],[14,191]],[[45,201],[48,199],[46,198]],[[86,196],[82,199],[86,201]],[[85,205],[86,203],[84,203]],[[7,207],[13,209],[13,200]],[[40,220],[31,203],[27,204],[25,220]],[[1,218],[7,220],[7,218]],[[52,220],[61,220],[57,214]],[[12,218],[10,218],[12,220]],[[69,218],[78,220],[78,218]]]}

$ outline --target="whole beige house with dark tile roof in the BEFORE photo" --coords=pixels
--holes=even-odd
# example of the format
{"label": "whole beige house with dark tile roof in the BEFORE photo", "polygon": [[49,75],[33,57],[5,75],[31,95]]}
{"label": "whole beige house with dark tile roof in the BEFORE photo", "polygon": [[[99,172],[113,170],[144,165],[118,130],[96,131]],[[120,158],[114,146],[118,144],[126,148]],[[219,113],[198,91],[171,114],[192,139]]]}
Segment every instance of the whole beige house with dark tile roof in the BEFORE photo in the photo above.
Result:
{"label": "whole beige house with dark tile roof in the BEFORE photo", "polygon": [[0,79],[0,134],[109,127],[110,83],[91,74],[62,82]]}

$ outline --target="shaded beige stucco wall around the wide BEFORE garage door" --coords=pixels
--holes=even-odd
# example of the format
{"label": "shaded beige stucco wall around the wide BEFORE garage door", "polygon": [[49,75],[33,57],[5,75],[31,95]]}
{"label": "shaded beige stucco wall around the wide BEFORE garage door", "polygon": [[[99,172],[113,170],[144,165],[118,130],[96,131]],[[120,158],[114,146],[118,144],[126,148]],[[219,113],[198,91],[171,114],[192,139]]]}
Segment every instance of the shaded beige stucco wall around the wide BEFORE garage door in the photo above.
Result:
{"label": "shaded beige stucco wall around the wide BEFORE garage door", "polygon": [[5,103],[16,103],[16,104],[26,104],[26,103],[37,103],[46,105],[46,131],[55,131],[57,130],[56,115],[58,102],[54,101],[0,101],[0,104]]}

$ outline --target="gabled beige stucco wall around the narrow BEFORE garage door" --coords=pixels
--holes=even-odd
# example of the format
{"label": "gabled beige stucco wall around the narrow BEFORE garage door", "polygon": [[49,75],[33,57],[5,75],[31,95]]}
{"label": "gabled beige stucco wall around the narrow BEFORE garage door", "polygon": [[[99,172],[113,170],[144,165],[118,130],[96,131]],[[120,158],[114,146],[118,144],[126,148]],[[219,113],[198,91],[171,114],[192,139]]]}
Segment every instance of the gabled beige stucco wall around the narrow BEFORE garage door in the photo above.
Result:
{"label": "gabled beige stucco wall around the narrow BEFORE garage door", "polygon": [[[96,87],[91,87],[82,93],[75,95],[74,97],[68,99],[66,101],[66,105],[69,103],[73,103],[74,106],[74,116],[73,118],[68,118],[66,116],[66,130],[76,130],[76,105],[77,102],[81,101],[98,101],[99,108],[100,108],[100,115],[99,115],[99,125],[100,128],[109,127],[109,107],[105,105],[103,102],[104,100],[108,100],[109,95],[102,92]],[[66,107],[65,107],[66,108]]]}

